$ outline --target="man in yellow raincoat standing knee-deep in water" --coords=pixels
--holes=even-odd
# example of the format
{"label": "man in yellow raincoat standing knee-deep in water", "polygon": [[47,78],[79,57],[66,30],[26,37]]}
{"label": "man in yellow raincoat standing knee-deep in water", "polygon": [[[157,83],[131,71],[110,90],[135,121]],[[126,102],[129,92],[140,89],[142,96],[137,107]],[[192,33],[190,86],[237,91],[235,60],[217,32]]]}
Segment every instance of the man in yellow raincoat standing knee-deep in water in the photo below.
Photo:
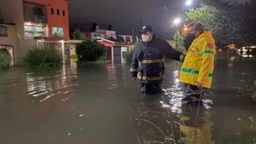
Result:
{"label": "man in yellow raincoat standing knee-deep in water", "polygon": [[194,103],[201,100],[206,88],[211,88],[216,50],[211,31],[203,31],[202,24],[196,22],[188,28],[188,35],[194,35],[195,39],[182,64],[180,81],[185,86],[182,102]]}

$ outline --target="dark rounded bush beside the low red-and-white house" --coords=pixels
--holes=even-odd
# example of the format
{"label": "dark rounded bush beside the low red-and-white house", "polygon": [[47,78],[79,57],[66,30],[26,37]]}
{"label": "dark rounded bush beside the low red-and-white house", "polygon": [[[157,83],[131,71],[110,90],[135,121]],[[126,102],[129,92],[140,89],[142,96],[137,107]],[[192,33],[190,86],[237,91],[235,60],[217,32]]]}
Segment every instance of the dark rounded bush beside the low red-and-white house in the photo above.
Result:
{"label": "dark rounded bush beside the low red-and-white house", "polygon": [[107,48],[97,41],[85,40],[75,46],[79,62],[95,62],[99,58],[106,58]]}

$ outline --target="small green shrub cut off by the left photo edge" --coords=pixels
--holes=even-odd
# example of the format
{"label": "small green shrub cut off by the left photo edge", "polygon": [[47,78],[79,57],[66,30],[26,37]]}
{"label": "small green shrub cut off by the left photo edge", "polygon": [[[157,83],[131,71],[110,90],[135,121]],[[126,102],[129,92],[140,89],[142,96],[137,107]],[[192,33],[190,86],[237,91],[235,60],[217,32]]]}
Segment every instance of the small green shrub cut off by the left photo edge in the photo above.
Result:
{"label": "small green shrub cut off by the left photo edge", "polygon": [[11,59],[7,50],[0,50],[0,70],[7,69],[10,66]]}

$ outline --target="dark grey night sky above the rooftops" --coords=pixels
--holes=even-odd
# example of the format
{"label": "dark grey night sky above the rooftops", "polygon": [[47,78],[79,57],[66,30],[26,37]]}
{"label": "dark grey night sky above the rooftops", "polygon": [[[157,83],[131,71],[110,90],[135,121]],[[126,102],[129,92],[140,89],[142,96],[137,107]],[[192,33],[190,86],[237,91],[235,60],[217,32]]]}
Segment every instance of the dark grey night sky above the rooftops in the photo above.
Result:
{"label": "dark grey night sky above the rooftops", "polygon": [[[140,20],[143,25],[153,27],[153,31],[165,39],[172,39],[175,33],[173,20],[179,15],[184,24],[184,10],[188,9],[186,0],[70,0],[69,18],[72,24],[112,25],[120,34],[135,35],[140,31]],[[197,7],[199,0],[194,0],[191,7]],[[230,0],[223,0],[230,1]],[[243,3],[249,0],[232,0]],[[167,7],[167,9],[166,9]],[[178,12],[171,7],[180,7]]]}

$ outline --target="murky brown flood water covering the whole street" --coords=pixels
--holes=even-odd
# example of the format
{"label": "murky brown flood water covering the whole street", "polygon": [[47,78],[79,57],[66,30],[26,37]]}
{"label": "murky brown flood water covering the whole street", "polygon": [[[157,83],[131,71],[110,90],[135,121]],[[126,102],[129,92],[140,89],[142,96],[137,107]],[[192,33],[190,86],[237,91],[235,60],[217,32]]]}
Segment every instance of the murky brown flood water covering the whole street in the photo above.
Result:
{"label": "murky brown flood water covering the whole street", "polygon": [[182,105],[181,63],[142,96],[129,65],[0,72],[0,143],[256,143],[256,58],[216,60],[203,104]]}

